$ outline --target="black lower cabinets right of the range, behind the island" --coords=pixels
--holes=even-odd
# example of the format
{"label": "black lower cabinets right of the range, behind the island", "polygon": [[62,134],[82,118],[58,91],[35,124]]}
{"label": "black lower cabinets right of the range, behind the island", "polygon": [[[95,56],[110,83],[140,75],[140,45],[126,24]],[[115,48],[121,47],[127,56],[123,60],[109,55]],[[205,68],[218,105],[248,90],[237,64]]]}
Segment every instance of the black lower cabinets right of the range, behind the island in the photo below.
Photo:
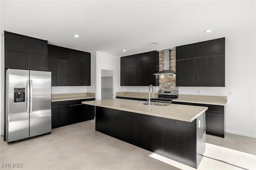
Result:
{"label": "black lower cabinets right of the range, behind the island", "polygon": [[172,104],[208,107],[206,111],[206,134],[224,138],[226,132],[224,106],[174,101]]}

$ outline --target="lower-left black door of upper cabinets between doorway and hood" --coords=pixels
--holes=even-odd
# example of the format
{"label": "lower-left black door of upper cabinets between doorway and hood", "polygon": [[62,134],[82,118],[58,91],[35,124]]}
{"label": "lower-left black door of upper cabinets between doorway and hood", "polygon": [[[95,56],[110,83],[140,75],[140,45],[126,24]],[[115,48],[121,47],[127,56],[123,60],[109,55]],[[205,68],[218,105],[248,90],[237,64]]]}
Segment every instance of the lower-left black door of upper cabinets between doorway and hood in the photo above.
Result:
{"label": "lower-left black door of upper cabinets between doorway and hood", "polygon": [[137,66],[121,67],[120,70],[120,85],[121,86],[136,86]]}

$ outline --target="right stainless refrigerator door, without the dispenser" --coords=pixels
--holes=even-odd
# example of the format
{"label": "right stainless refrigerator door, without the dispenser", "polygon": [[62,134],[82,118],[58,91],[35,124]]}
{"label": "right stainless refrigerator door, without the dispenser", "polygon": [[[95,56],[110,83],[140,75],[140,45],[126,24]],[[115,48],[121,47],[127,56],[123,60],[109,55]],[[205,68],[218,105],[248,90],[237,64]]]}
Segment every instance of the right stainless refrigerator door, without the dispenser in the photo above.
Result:
{"label": "right stainless refrigerator door, without the dispenser", "polygon": [[51,72],[30,70],[30,137],[51,132]]}

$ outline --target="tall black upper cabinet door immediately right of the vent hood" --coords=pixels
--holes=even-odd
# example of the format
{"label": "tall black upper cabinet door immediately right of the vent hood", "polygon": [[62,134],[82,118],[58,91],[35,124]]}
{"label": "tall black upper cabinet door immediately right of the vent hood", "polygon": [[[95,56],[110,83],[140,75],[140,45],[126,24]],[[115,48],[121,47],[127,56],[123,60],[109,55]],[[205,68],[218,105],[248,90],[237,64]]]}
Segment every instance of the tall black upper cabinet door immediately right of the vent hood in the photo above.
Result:
{"label": "tall black upper cabinet door immediately right of the vent hood", "polygon": [[176,86],[195,86],[195,59],[176,61]]}

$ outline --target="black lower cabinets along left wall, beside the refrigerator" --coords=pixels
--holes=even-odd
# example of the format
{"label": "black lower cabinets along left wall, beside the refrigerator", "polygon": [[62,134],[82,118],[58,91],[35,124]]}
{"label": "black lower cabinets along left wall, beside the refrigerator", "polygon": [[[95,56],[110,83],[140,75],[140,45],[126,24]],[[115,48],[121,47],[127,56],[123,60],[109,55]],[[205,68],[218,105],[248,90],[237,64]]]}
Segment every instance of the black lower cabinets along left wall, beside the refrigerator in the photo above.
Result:
{"label": "black lower cabinets along left wall, beside the refrigerator", "polygon": [[95,99],[52,102],[52,129],[94,119],[95,107],[81,104],[90,100]]}

